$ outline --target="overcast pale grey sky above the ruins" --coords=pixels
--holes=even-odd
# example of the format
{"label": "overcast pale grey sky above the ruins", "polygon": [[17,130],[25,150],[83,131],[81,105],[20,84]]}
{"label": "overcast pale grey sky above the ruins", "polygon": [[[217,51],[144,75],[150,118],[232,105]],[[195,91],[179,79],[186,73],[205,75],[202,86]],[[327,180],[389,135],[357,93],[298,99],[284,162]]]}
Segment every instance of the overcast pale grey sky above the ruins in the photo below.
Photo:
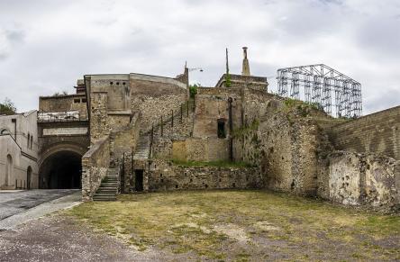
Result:
{"label": "overcast pale grey sky above the ruins", "polygon": [[277,68],[323,63],[362,84],[364,114],[400,104],[398,0],[0,0],[0,101],[27,111],[84,74],[175,77],[186,60],[214,86],[242,46],[272,90]]}

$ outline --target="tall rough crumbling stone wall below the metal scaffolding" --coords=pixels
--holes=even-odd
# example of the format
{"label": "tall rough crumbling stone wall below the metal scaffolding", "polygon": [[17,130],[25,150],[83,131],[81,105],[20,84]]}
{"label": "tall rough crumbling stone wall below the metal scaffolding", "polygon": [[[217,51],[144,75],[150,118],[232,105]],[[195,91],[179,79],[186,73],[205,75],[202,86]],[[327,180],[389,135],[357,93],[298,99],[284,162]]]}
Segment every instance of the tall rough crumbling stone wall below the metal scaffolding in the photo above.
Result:
{"label": "tall rough crumbling stone wall below the metal scaffolding", "polygon": [[243,97],[245,126],[236,131],[236,160],[259,166],[268,189],[315,195],[319,129],[314,109],[286,104],[274,95],[248,91]]}

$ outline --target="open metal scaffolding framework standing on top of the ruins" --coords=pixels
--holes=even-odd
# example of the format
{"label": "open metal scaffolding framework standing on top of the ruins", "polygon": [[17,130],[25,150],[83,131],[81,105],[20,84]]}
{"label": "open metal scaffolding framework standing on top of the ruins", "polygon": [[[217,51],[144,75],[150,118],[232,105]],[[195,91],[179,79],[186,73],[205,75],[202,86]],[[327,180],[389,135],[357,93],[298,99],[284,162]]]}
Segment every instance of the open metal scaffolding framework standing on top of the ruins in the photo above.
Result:
{"label": "open metal scaffolding framework standing on top of the ruins", "polygon": [[323,64],[277,69],[277,92],[318,104],[332,116],[362,114],[361,84]]}

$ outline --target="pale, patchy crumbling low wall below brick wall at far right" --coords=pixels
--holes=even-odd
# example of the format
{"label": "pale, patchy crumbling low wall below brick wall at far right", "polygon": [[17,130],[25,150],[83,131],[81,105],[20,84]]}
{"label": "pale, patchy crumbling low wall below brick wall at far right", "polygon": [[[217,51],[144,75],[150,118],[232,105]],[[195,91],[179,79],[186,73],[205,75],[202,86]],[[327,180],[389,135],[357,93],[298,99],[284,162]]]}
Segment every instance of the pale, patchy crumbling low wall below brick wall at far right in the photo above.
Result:
{"label": "pale, patchy crumbling low wall below brick wall at far right", "polygon": [[337,203],[372,207],[400,204],[394,158],[335,151],[329,156],[329,198]]}

